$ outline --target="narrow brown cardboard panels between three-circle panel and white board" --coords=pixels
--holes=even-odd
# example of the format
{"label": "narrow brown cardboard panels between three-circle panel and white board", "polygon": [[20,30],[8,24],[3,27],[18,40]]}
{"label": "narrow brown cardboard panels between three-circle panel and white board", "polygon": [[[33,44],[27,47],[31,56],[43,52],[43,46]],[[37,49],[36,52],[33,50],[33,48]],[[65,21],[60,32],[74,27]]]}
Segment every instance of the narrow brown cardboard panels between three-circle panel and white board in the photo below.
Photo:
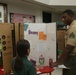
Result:
{"label": "narrow brown cardboard panels between three-circle panel and white board", "polygon": [[12,30],[12,41],[13,41],[13,57],[15,57],[16,54],[16,44],[19,39],[24,38],[24,25],[20,23],[14,23],[13,24],[13,30]]}

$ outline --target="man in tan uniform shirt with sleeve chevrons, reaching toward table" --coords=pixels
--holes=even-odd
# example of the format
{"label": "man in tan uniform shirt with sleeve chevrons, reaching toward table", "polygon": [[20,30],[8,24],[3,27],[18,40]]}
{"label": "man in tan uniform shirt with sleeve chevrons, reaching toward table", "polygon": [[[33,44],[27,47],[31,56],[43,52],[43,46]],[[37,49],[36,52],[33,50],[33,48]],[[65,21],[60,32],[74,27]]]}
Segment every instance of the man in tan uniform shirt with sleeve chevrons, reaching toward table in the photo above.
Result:
{"label": "man in tan uniform shirt with sleeve chevrons, reaching toward table", "polygon": [[67,75],[76,75],[76,20],[74,12],[70,9],[63,11],[61,19],[66,25],[69,25],[65,35],[66,46],[58,60],[50,64],[52,67],[64,64],[70,68]]}

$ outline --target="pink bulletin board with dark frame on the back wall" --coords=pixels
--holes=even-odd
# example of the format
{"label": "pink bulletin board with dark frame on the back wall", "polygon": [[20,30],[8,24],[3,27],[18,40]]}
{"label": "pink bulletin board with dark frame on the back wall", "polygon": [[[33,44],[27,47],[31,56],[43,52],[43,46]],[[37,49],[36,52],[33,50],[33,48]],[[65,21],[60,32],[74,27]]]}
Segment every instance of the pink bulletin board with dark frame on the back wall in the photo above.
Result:
{"label": "pink bulletin board with dark frame on the back wall", "polygon": [[10,13],[11,23],[34,23],[35,16],[27,14]]}

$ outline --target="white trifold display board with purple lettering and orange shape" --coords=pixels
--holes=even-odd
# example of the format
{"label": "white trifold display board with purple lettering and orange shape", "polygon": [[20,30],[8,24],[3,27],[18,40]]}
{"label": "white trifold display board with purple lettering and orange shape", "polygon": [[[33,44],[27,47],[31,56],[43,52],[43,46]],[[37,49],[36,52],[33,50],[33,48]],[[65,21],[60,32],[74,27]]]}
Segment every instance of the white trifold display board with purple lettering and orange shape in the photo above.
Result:
{"label": "white trifold display board with purple lettering and orange shape", "polygon": [[56,23],[24,23],[24,39],[31,45],[29,60],[39,64],[39,57],[45,58],[44,65],[49,65],[49,59],[56,60]]}

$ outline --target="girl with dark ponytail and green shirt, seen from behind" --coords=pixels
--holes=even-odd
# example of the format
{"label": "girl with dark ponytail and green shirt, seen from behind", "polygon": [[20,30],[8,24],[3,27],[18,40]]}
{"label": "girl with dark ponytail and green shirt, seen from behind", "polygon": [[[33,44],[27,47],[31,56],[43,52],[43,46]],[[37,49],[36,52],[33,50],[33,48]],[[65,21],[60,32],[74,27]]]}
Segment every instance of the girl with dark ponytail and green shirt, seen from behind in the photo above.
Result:
{"label": "girl with dark ponytail and green shirt, seen from behind", "polygon": [[21,39],[17,42],[17,56],[13,58],[12,69],[14,75],[37,75],[34,64],[28,60],[30,43]]}

